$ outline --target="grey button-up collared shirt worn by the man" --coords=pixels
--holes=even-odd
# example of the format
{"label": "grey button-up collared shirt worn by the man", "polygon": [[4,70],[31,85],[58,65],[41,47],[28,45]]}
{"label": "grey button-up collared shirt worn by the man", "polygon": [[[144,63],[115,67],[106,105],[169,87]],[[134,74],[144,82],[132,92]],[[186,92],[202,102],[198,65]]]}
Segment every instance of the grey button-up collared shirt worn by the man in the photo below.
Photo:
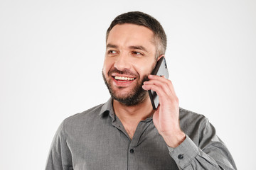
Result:
{"label": "grey button-up collared shirt worn by the man", "polygon": [[166,145],[152,118],[139,123],[131,140],[110,98],[61,123],[46,169],[236,169],[207,118],[180,108],[180,125],[186,140],[176,148]]}

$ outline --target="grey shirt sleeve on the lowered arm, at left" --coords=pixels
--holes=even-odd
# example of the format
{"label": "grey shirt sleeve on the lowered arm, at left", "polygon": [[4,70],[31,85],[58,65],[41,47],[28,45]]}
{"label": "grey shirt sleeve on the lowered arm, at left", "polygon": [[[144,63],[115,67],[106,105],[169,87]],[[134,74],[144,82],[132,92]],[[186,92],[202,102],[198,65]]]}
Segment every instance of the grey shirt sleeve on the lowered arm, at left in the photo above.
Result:
{"label": "grey shirt sleeve on the lowered arm, at left", "polygon": [[71,170],[73,169],[70,149],[66,143],[64,121],[60,124],[46,162],[46,170]]}

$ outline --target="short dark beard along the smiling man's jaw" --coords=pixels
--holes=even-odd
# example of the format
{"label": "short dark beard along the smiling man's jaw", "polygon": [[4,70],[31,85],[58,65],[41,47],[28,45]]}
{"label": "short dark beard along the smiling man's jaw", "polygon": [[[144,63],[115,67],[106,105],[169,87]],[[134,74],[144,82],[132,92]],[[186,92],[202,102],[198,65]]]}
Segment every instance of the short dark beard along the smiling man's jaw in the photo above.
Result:
{"label": "short dark beard along the smiling man's jaw", "polygon": [[[116,72],[119,72],[120,74],[122,74],[121,71],[117,70]],[[105,81],[107,89],[110,91],[110,95],[112,96],[112,98],[116,101],[119,101],[120,103],[123,103],[126,106],[135,106],[145,101],[145,99],[148,97],[147,91],[144,91],[144,89],[142,89],[143,82],[148,80],[148,75],[145,75],[144,77],[142,77],[142,81],[140,82],[137,81],[137,84],[134,86],[134,89],[127,92],[127,94],[125,94],[124,96],[117,95],[118,90],[114,91],[112,84],[110,83],[110,81],[112,80],[110,79],[108,82],[103,72],[102,72],[102,77]],[[122,87],[119,87],[119,89],[121,88]]]}

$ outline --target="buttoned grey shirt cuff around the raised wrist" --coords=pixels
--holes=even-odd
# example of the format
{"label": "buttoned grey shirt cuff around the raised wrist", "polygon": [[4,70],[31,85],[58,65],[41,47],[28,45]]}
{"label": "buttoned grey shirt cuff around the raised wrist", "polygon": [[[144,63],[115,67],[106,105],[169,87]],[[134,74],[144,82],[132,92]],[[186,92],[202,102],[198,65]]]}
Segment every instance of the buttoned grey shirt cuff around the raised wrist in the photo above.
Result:
{"label": "buttoned grey shirt cuff around the raised wrist", "polygon": [[[168,146],[167,146],[168,147]],[[171,157],[182,169],[199,154],[196,144],[186,135],[186,139],[178,147],[168,147]]]}

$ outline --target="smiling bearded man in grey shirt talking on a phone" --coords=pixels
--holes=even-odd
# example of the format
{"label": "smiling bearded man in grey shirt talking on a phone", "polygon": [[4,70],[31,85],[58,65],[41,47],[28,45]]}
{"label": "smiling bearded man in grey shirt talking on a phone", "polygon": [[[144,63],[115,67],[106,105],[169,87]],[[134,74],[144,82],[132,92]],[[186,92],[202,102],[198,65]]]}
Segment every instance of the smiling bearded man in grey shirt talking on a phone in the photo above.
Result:
{"label": "smiling bearded man in grey shirt talking on a phone", "polygon": [[[112,97],[63,121],[46,169],[236,169],[208,119],[179,108],[171,81],[150,75],[165,50],[156,19],[117,16],[102,69]],[[148,90],[159,96],[156,111]]]}

